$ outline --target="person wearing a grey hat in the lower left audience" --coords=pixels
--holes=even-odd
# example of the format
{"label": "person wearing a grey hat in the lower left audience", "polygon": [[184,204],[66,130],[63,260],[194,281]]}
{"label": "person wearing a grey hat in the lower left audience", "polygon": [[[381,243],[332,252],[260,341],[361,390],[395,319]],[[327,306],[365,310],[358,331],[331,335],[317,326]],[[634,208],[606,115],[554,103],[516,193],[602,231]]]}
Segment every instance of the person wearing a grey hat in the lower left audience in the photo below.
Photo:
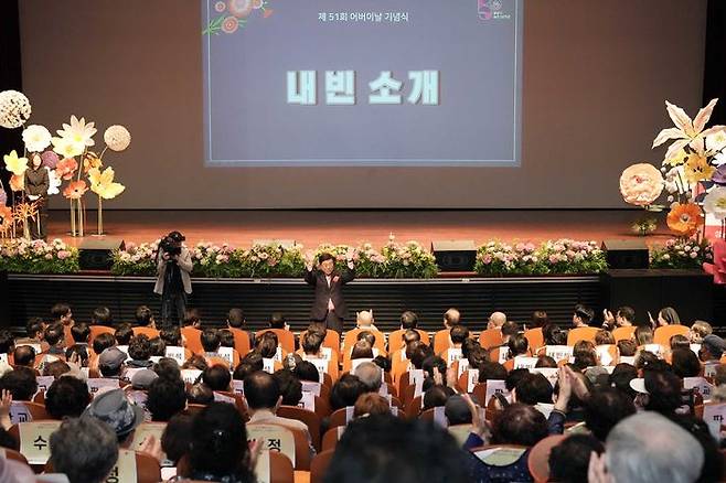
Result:
{"label": "person wearing a grey hat in the lower left audience", "polygon": [[110,426],[124,448],[131,442],[134,431],[143,422],[143,409],[129,402],[124,389],[113,389],[94,397],[82,418],[95,418]]}

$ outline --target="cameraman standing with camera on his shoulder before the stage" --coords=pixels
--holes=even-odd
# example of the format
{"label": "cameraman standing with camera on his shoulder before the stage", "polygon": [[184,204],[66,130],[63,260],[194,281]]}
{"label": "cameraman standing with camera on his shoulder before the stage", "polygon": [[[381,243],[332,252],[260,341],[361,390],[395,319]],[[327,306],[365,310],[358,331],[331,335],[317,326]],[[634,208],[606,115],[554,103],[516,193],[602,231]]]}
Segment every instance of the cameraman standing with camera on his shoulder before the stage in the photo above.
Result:
{"label": "cameraman standing with camera on his shoulder before the stage", "polygon": [[182,245],[186,239],[179,232],[171,232],[159,243],[157,255],[157,285],[154,293],[161,296],[161,324],[168,328],[172,319],[184,320],[186,296],[192,293],[192,256]]}

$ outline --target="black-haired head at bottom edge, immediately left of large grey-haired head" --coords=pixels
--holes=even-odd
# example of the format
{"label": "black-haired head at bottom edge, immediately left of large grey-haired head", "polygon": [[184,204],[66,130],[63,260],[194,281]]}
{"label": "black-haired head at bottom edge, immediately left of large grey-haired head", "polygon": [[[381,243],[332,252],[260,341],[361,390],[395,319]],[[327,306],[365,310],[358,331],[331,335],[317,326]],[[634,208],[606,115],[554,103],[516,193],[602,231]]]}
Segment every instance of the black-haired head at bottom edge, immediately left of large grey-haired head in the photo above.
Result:
{"label": "black-haired head at bottom edge, immediately left of large grey-haired head", "polygon": [[549,479],[562,483],[587,483],[590,455],[605,447],[589,434],[572,434],[549,452]]}

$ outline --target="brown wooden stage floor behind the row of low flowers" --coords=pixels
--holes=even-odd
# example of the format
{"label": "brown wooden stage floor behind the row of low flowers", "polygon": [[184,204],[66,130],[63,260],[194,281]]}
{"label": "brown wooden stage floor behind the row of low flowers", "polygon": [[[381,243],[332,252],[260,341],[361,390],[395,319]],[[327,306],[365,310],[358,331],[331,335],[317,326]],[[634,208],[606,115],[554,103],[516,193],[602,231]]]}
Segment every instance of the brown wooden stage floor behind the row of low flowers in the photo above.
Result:
{"label": "brown wooden stage floor behind the row of low flowers", "polygon": [[[172,229],[200,240],[227,242],[248,247],[254,239],[295,239],[308,248],[320,243],[384,245],[389,234],[398,242],[489,239],[542,242],[553,238],[636,238],[631,224],[640,211],[105,211],[104,228],[109,237],[150,242]],[[662,214],[649,244],[670,237]],[[67,211],[51,211],[49,238],[76,245],[68,234]],[[96,213],[89,211],[86,236],[96,233]]]}

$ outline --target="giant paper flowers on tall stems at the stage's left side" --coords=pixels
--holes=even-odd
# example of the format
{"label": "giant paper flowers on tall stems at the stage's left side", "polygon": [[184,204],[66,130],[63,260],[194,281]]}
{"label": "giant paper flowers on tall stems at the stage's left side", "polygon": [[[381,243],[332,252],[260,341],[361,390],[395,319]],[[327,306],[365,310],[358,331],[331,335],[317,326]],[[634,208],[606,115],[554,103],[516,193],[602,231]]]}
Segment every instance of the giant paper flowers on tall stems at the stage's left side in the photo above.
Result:
{"label": "giant paper flowers on tall stems at the stage's left side", "polygon": [[[86,122],[83,117],[78,119],[76,116],[71,116],[70,124],[63,124],[62,129],[56,131],[57,137],[53,137],[44,126],[25,126],[31,112],[30,101],[22,93],[15,90],[0,93],[0,126],[8,129],[24,127],[22,131],[23,155],[19,155],[14,150],[3,155],[6,169],[12,173],[10,178],[12,205],[29,204],[33,201],[25,195],[24,174],[29,169],[30,154],[40,153],[42,167],[47,170],[49,174],[47,194],[63,193],[63,196],[70,202],[72,235],[84,236],[85,204],[83,196],[88,190],[98,196],[97,232],[99,235],[103,234],[103,200],[113,200],[125,190],[122,184],[115,182],[114,169],[110,167],[104,169],[103,158],[107,150],[115,152],[126,150],[131,142],[129,131],[124,126],[110,126],[104,132],[106,146],[100,154],[97,154],[90,150],[96,146],[93,139],[97,132],[94,122]],[[61,190],[63,181],[68,183]],[[0,184],[0,191],[2,187]],[[4,206],[7,203],[4,192],[0,201]],[[23,236],[28,238],[29,223],[35,219],[38,206],[34,208],[34,211],[32,207],[21,210],[21,213],[26,216],[13,217],[12,227],[10,230],[2,232],[3,237],[9,233],[10,237],[14,238],[18,228],[22,225]],[[30,215],[28,215],[29,213]]]}

